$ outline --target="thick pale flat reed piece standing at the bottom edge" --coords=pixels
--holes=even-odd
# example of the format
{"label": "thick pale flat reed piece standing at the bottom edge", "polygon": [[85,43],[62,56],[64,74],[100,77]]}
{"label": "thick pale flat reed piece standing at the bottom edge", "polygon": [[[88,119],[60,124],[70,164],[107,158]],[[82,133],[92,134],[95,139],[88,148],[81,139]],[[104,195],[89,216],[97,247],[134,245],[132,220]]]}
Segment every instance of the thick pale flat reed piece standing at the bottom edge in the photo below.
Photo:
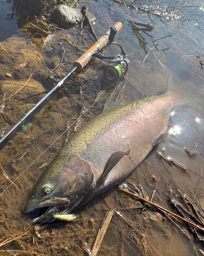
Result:
{"label": "thick pale flat reed piece standing at the bottom edge", "polygon": [[106,216],[104,218],[104,221],[101,225],[101,228],[99,229],[98,231],[98,234],[97,234],[97,237],[96,237],[96,240],[94,242],[94,245],[93,245],[93,248],[91,250],[91,255],[92,256],[95,256],[100,248],[100,245],[101,245],[101,242],[103,241],[104,239],[104,236],[105,236],[105,233],[106,233],[106,230],[111,222],[111,219],[113,217],[113,212],[112,211],[107,211],[106,213]]}

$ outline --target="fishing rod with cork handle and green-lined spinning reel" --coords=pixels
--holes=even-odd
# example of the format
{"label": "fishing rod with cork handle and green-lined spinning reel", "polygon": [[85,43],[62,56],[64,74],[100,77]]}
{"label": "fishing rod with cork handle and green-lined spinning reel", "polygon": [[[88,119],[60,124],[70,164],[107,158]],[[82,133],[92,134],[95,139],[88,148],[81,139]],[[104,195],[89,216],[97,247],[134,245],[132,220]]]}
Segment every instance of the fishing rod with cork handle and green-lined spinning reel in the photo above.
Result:
{"label": "fishing rod with cork handle and green-lined spinning reel", "polygon": [[[121,71],[118,68],[119,62],[122,63],[123,58],[125,58],[125,52],[123,51],[122,47],[119,44],[113,42],[116,33],[118,31],[120,31],[121,29],[122,29],[122,23],[117,22],[114,26],[112,26],[106,32],[106,34],[101,36],[95,42],[95,44],[93,46],[91,46],[78,60],[74,61],[73,69],[70,70],[69,73],[62,80],[60,80],[56,84],[56,86],[52,90],[50,90],[35,106],[33,106],[33,108],[29,112],[27,112],[16,124],[14,124],[13,127],[6,134],[4,134],[4,136],[0,139],[0,144],[2,144],[9,137],[9,135],[11,135],[17,129],[17,127],[19,127],[51,94],[53,94],[57,90],[61,89],[63,87],[63,84],[65,83],[65,81],[67,80],[67,78],[69,76],[71,76],[75,71],[78,71],[78,72],[82,71],[82,69],[87,65],[87,63],[93,57],[97,57],[100,59],[110,59],[110,60],[112,59],[112,60],[116,61],[116,66],[111,67],[114,71],[108,69],[108,71],[110,71],[110,72],[107,72],[107,76],[110,77],[110,80],[112,79],[112,77],[114,75],[117,75],[117,76],[119,75],[119,78],[120,78],[123,73],[125,74],[126,72],[123,72],[124,69],[122,69],[122,71]],[[117,44],[121,49],[121,54],[116,55],[116,57],[112,57],[112,56],[105,56],[103,54],[98,53],[104,46],[111,45],[111,44]],[[127,60],[124,60],[124,61],[127,62]],[[124,63],[126,63],[126,62],[124,62]],[[127,70],[127,68],[125,69],[125,71],[126,70]],[[109,75],[109,73],[111,76]]]}

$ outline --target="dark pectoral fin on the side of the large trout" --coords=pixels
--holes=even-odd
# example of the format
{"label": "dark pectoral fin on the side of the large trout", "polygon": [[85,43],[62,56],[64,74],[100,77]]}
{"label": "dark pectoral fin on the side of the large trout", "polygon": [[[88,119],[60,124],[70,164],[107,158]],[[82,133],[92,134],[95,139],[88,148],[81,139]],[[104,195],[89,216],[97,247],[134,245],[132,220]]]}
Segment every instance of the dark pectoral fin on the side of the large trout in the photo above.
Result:
{"label": "dark pectoral fin on the side of the large trout", "polygon": [[107,174],[110,172],[110,170],[113,169],[113,167],[120,161],[120,159],[124,155],[128,156],[129,154],[130,154],[130,150],[127,151],[127,152],[118,151],[118,152],[113,153],[109,157],[109,159],[108,159],[108,161],[107,161],[107,163],[106,163],[106,165],[104,167],[103,173],[98,178],[97,183],[100,183],[107,176]]}

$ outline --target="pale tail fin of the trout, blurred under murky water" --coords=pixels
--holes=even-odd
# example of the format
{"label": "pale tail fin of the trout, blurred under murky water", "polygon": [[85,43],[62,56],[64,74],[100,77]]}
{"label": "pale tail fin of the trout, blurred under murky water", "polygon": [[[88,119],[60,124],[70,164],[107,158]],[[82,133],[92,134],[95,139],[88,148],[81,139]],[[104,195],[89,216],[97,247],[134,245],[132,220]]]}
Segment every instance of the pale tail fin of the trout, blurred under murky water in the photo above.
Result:
{"label": "pale tail fin of the trout, blurred under murky water", "polygon": [[166,93],[173,97],[175,105],[190,103],[192,102],[190,98],[192,87],[190,85],[190,82],[186,80],[184,81],[179,77],[170,76]]}

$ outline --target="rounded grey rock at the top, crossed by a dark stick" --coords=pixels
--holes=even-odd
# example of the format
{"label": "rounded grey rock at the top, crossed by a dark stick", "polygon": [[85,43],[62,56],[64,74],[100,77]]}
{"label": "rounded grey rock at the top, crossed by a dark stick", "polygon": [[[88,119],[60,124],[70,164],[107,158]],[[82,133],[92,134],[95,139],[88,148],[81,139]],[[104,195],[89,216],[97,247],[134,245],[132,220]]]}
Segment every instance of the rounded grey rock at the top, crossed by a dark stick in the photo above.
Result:
{"label": "rounded grey rock at the top, crossed by a dark stick", "polygon": [[[91,23],[96,21],[96,18],[90,12],[88,12],[88,17]],[[59,25],[60,27],[80,24],[82,19],[83,15],[80,9],[72,8],[67,5],[58,6],[58,8],[51,15],[52,22]]]}

